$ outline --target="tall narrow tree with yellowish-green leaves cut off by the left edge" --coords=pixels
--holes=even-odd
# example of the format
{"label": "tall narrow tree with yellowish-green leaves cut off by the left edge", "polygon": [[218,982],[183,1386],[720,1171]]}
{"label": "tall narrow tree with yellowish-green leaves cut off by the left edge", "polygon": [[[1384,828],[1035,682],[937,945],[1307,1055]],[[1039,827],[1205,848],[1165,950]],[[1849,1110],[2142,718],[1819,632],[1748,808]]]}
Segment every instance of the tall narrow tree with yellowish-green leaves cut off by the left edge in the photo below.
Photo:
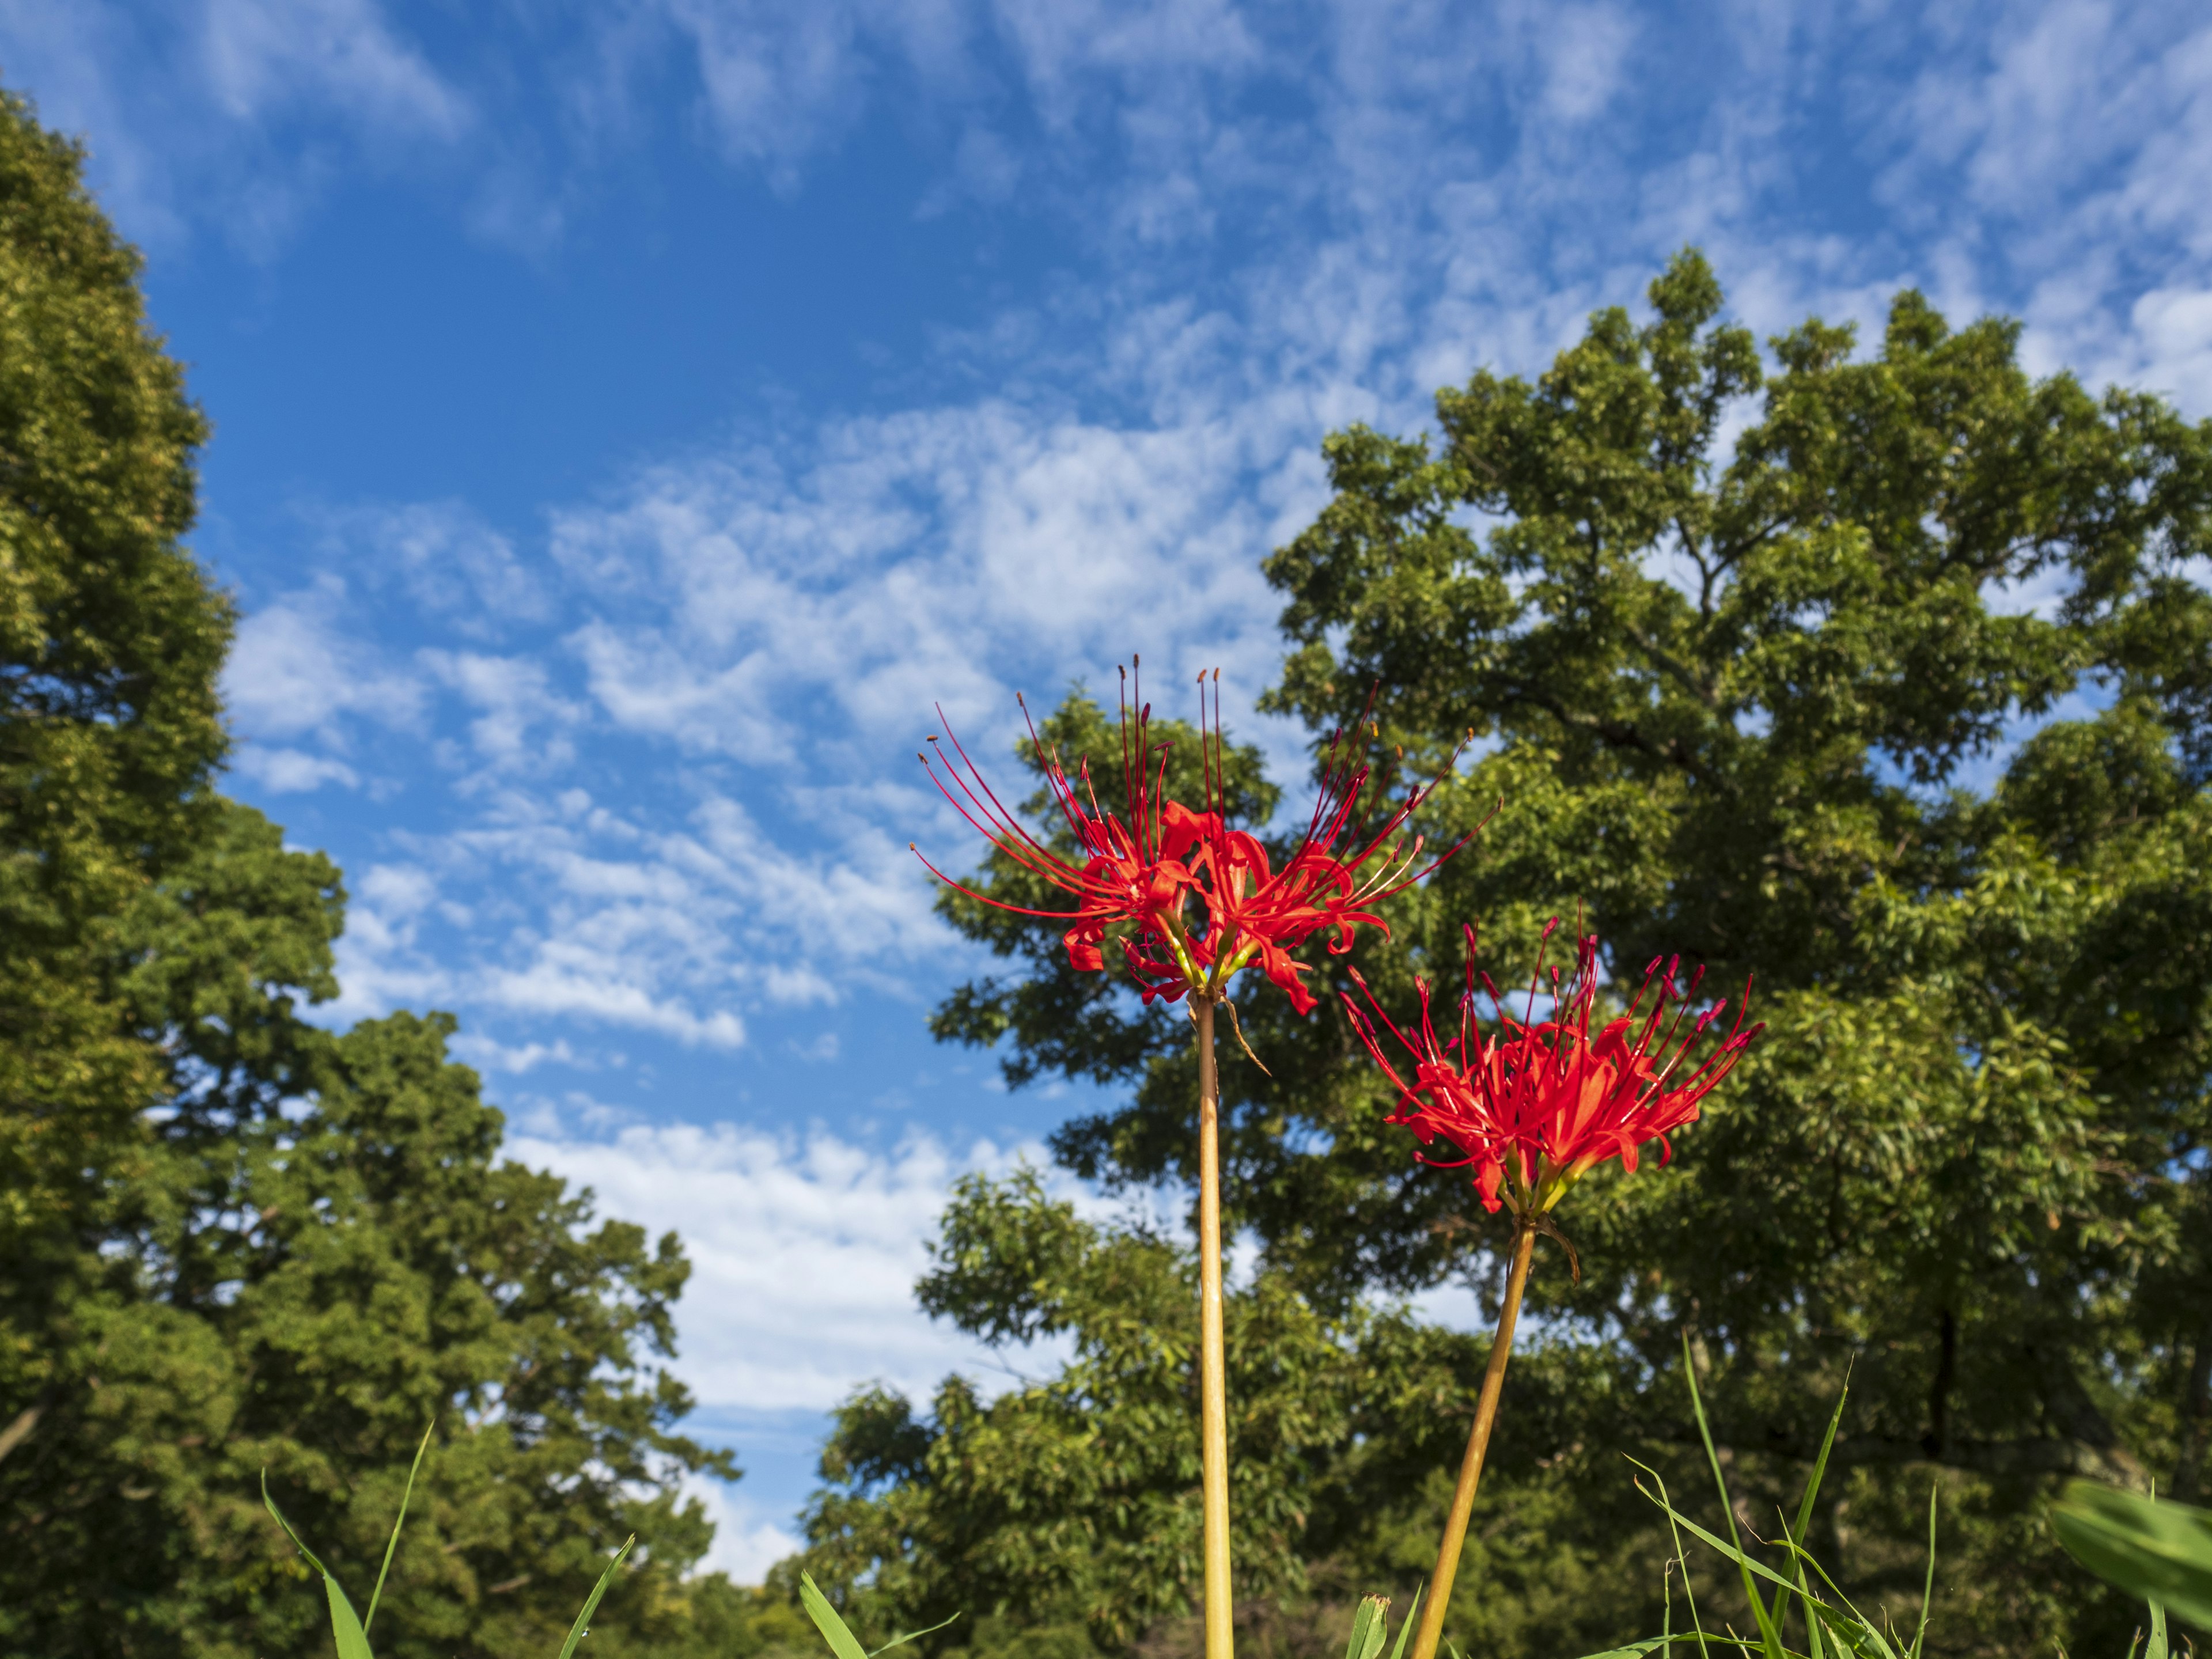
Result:
{"label": "tall narrow tree with yellowish-green leaves cut off by the left edge", "polygon": [[206,422],[77,164],[0,93],[0,1394],[18,1400],[51,1383],[40,1310],[157,1097],[119,927],[206,832],[230,639],[177,540]]}

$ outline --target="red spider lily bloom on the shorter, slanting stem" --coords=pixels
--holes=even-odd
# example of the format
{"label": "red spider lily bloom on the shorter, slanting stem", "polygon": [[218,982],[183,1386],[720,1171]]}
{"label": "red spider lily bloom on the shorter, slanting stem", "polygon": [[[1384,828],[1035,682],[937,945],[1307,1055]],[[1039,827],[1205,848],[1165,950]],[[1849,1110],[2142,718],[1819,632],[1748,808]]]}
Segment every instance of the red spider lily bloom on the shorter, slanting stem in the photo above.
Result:
{"label": "red spider lily bloom on the shorter, slanting stem", "polygon": [[[1559,920],[1544,929],[1551,942]],[[1672,1157],[1672,1135],[1697,1121],[1699,1102],[1734,1068],[1763,1024],[1745,1029],[1750,1004],[1701,1062],[1690,1064],[1708,1026],[1728,1009],[1728,1000],[1690,1018],[1703,969],[1688,987],[1677,982],[1681,958],[1670,958],[1661,971],[1659,958],[1644,969],[1644,984],[1628,1013],[1590,1037],[1590,1011],[1597,1002],[1597,938],[1584,938],[1575,971],[1564,978],[1551,971],[1553,1011],[1535,1020],[1535,998],[1544,982],[1542,956],[1528,984],[1528,1006],[1520,1020],[1506,1013],[1498,989],[1482,975],[1500,1035],[1475,1033],[1475,929],[1467,933],[1467,993],[1460,998],[1460,1035],[1438,1042],[1429,1015],[1429,982],[1420,980],[1420,1035],[1409,1037],[1367,991],[1376,1018],[1389,1026],[1409,1055],[1413,1082],[1407,1082],[1383,1055],[1376,1029],[1345,995],[1345,1009],[1374,1055],[1383,1075],[1398,1086],[1398,1110],[1391,1124],[1405,1124],[1422,1146],[1447,1141],[1462,1157],[1425,1157],[1438,1168],[1475,1170],[1475,1190],[1491,1212],[1500,1201],[1517,1217],[1542,1217],[1577,1179],[1608,1157],[1637,1168],[1637,1148],[1659,1141],[1659,1161]],[[1358,973],[1354,973],[1358,980]],[[1646,1000],[1650,1006],[1646,1009]],[[1639,1020],[1641,1011],[1641,1020]],[[1672,1018],[1668,1018],[1672,1011]],[[1686,1029],[1688,1026],[1688,1029]]]}

